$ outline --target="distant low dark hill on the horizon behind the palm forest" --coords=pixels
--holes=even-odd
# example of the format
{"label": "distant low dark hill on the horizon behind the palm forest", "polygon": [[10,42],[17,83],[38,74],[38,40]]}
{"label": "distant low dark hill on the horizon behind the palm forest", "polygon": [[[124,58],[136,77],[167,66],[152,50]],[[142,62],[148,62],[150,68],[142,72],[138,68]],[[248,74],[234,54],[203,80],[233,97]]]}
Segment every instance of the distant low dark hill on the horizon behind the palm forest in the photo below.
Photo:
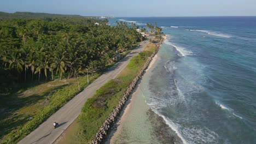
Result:
{"label": "distant low dark hill on the horizon behind the palm forest", "polygon": [[8,19],[8,18],[40,19],[40,18],[44,18],[44,17],[55,18],[55,17],[95,17],[95,16],[61,15],[61,14],[48,14],[48,13],[31,13],[31,12],[4,13],[4,12],[0,11],[0,19]]}

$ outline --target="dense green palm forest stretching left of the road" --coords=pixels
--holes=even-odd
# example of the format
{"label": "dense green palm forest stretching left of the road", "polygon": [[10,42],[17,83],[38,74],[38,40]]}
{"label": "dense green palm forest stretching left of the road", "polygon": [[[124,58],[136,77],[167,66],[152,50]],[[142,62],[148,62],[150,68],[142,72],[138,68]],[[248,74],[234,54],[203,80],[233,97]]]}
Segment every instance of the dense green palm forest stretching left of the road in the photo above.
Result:
{"label": "dense green palm forest stretching left of the road", "polygon": [[[98,25],[95,25],[95,23]],[[141,34],[136,27],[84,17],[0,20],[1,92],[12,83],[75,77],[112,64]]]}

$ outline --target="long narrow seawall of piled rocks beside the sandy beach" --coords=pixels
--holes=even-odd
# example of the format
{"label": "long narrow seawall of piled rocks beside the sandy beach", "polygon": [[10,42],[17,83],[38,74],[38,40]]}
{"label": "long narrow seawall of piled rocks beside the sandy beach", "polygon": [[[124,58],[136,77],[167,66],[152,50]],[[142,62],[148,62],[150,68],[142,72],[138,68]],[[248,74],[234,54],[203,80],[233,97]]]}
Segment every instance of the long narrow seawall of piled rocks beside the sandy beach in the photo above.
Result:
{"label": "long narrow seawall of piled rocks beside the sandy beach", "polygon": [[[162,43],[163,39],[161,39]],[[115,123],[117,116],[120,114],[121,110],[123,109],[127,99],[129,98],[130,94],[132,93],[133,89],[136,87],[137,82],[139,79],[142,78],[143,74],[145,73],[146,69],[148,68],[150,62],[152,61],[153,57],[158,53],[161,45],[156,45],[156,50],[152,53],[149,59],[144,63],[143,68],[139,71],[135,79],[131,82],[130,86],[127,88],[126,92],[124,93],[123,97],[121,97],[117,106],[114,107],[114,110],[109,114],[109,117],[103,123],[101,128],[98,130],[95,139],[92,140],[92,144],[102,143],[104,137],[107,136],[107,132],[110,127]]]}

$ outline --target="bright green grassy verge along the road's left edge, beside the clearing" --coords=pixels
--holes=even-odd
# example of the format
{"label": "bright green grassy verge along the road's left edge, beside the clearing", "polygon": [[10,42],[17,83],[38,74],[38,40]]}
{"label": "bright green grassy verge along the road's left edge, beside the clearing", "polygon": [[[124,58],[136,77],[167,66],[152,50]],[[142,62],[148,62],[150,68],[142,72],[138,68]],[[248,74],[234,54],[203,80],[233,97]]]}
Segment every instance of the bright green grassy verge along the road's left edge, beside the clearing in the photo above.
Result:
{"label": "bright green grassy verge along the road's left edge, beside the clearing", "polygon": [[[97,79],[98,76],[100,75],[96,74],[93,77],[90,77],[90,82]],[[79,81],[80,91],[88,86],[87,76],[82,76],[77,81]],[[15,129],[11,130],[9,134],[3,137],[1,143],[17,143],[23,137],[30,134],[31,131],[36,129],[42,122],[53,115],[53,113],[59,110],[63,105],[65,105],[80,92],[77,81],[71,83],[70,85],[56,89],[56,91],[50,95],[50,103],[48,105],[40,109],[40,111],[37,111],[31,120],[18,124]],[[26,109],[26,107],[24,109]],[[21,109],[21,111],[24,109]]]}

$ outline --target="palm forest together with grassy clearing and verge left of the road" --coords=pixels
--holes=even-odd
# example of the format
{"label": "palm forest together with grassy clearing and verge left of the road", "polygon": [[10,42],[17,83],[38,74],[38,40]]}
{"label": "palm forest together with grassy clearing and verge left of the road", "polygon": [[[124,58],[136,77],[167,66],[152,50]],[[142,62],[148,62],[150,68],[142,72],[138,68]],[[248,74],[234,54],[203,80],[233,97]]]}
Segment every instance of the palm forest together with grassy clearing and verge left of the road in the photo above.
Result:
{"label": "palm forest together with grassy clearing and verge left of the road", "polygon": [[[93,81],[142,39],[126,23],[106,23],[79,17],[0,20],[2,143],[18,142],[65,105],[79,93],[77,81],[80,89],[88,85],[86,76],[72,77],[88,70]],[[51,82],[45,88],[42,81]]]}

